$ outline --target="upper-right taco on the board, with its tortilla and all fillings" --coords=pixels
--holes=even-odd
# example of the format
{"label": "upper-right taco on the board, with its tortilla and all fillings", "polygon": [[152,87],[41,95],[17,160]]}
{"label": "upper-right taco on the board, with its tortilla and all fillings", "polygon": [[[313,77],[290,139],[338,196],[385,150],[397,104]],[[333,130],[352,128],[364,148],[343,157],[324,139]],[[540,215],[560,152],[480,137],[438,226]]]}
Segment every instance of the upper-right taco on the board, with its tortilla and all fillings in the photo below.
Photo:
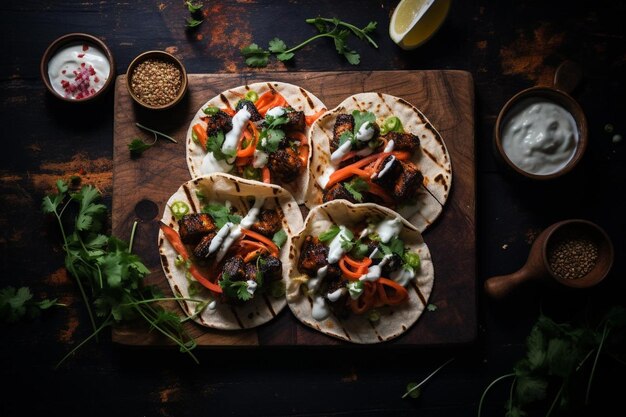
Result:
{"label": "upper-right taco on the board, with its tortilla and all fillings", "polygon": [[405,100],[382,93],[345,99],[317,119],[306,205],[377,203],[420,231],[439,216],[452,182],[441,135]]}

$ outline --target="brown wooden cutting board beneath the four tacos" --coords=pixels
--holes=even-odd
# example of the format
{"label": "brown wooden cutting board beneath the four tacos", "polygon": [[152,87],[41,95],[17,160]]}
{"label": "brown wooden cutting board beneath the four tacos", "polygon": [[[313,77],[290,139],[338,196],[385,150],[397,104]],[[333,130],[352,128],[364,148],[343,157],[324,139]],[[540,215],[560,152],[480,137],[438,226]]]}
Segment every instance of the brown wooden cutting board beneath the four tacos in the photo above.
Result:
{"label": "brown wooden cutting board beneath the four tacos", "polygon": [[[440,218],[424,234],[435,266],[435,284],[417,323],[391,345],[434,346],[469,343],[476,337],[476,173],[474,152],[474,85],[464,71],[279,72],[253,74],[191,74],[183,102],[166,111],[136,106],[126,90],[126,76],[117,78],[113,137],[113,233],[128,240],[139,221],[134,252],[151,271],[147,282],[171,290],[161,269],[158,223],[168,198],[190,179],[185,162],[185,135],[193,115],[223,90],[245,83],[282,81],[299,85],[333,108],[349,95],[382,92],[402,97],[419,108],[441,133],[452,161],[452,189]],[[177,144],[159,139],[142,157],[131,159],[128,143],[151,134],[135,123],[164,132]],[[165,304],[180,314],[176,303]],[[435,309],[436,308],[436,309]],[[285,308],[278,317],[252,330],[216,331],[189,322],[198,345],[338,345],[302,325]],[[117,327],[113,340],[126,345],[155,346],[167,341],[143,326]]]}

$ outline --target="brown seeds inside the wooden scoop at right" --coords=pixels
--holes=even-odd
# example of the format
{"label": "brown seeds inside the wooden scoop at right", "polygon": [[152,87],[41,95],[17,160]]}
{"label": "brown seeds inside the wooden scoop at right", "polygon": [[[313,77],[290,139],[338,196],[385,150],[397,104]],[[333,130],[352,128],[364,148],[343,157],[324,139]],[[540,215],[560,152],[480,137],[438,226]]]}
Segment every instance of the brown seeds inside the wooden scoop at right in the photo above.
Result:
{"label": "brown seeds inside the wooden scoop at right", "polygon": [[598,261],[598,245],[587,237],[556,237],[548,246],[550,269],[561,279],[578,279],[587,275]]}

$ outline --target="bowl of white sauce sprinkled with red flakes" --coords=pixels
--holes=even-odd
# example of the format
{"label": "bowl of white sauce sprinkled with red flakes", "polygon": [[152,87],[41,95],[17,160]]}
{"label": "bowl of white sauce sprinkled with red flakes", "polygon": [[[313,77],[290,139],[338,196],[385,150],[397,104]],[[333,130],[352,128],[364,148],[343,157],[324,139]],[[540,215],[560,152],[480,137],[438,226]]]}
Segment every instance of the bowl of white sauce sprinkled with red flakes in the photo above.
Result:
{"label": "bowl of white sauce sprinkled with red flakes", "polygon": [[46,49],[40,72],[53,96],[67,102],[92,101],[113,85],[115,60],[99,38],[86,33],[68,33]]}

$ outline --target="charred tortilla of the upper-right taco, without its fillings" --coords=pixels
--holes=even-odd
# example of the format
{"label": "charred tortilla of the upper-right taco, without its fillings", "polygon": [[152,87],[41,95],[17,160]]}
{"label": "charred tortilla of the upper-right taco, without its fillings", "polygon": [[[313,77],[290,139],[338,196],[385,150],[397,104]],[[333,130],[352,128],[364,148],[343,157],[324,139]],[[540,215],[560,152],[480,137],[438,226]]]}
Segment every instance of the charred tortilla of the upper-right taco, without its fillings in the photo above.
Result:
{"label": "charred tortilla of the upper-right taco, without its fillings", "polygon": [[309,163],[310,179],[306,206],[313,208],[322,203],[323,189],[318,179],[330,166],[333,126],[339,114],[351,114],[353,110],[372,112],[376,115],[379,126],[382,126],[388,117],[396,116],[402,122],[405,132],[420,138],[421,146],[410,161],[424,175],[423,186],[418,190],[415,202],[400,205],[395,210],[418,230],[424,231],[439,217],[448,199],[452,185],[450,154],[441,135],[422,112],[407,101],[388,94],[361,93],[350,96],[313,123],[309,134],[309,142],[313,149]]}

